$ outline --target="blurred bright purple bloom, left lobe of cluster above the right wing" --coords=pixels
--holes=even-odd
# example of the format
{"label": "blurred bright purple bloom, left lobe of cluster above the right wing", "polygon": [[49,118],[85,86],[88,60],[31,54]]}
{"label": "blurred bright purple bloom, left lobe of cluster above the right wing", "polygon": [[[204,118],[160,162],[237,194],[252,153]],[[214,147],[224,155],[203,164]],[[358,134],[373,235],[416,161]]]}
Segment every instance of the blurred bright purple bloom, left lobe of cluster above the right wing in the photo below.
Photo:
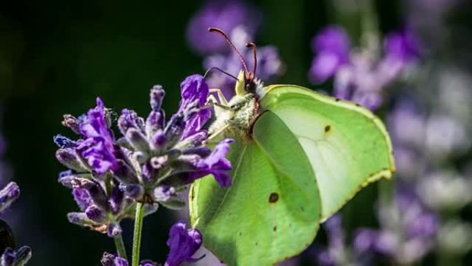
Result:
{"label": "blurred bright purple bloom, left lobe of cluster above the right wing", "polygon": [[312,48],[317,53],[309,75],[313,84],[325,82],[349,62],[351,44],[348,35],[339,26],[324,28],[313,39]]}

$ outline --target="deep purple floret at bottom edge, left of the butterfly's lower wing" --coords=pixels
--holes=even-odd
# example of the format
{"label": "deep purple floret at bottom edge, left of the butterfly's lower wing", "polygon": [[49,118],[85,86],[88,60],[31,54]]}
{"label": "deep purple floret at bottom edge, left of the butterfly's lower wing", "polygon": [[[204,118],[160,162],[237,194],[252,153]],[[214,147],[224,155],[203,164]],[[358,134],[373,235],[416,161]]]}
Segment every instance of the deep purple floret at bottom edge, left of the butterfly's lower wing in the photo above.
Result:
{"label": "deep purple floret at bottom edge, left of the butterfly's lower wing", "polygon": [[201,247],[201,234],[197,229],[186,229],[185,222],[177,222],[169,231],[167,245],[170,249],[165,266],[179,266],[182,263],[195,263],[200,258],[192,256]]}

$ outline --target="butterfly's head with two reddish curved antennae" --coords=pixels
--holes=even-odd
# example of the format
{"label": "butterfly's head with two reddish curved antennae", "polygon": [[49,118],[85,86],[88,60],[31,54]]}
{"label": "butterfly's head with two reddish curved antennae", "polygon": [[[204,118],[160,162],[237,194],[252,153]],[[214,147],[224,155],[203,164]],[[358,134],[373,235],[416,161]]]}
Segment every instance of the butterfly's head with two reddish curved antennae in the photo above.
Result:
{"label": "butterfly's head with two reddish curved antennae", "polygon": [[233,44],[233,42],[229,39],[228,35],[226,35],[223,30],[220,30],[218,28],[209,28],[208,30],[210,32],[217,32],[222,35],[224,39],[228,41],[228,44],[231,46],[231,48],[235,50],[236,54],[239,56],[239,59],[241,59],[243,69],[239,72],[239,75],[237,76],[236,94],[239,96],[246,95],[248,93],[255,94],[257,92],[257,89],[262,85],[262,82],[260,82],[255,75],[257,70],[257,46],[253,42],[246,44],[246,47],[253,49],[254,54],[254,68],[253,71],[249,71],[248,66],[246,64],[246,60],[244,60],[244,57]]}

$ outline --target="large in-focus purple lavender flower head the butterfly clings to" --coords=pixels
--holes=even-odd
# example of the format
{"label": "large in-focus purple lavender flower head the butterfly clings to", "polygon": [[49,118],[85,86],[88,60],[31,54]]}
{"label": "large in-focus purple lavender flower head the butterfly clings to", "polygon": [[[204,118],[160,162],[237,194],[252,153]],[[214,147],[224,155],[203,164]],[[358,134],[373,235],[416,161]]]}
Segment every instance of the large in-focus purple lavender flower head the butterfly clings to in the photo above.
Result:
{"label": "large in-focus purple lavender flower head the butterfly clings to", "polygon": [[121,112],[119,138],[101,99],[86,115],[65,115],[63,124],[79,135],[79,140],[55,137],[57,160],[70,169],[59,175],[59,182],[72,189],[81,209],[68,214],[70,222],[118,236],[120,221],[132,218],[137,202],[146,203],[146,214],[158,204],[183,207],[177,193],[206,175],[230,186],[232,167],[226,155],[233,140],[223,140],[213,151],[204,146],[208,132],[203,126],[211,116],[204,108],[208,93],[201,75],[185,79],[179,111],[166,123],[164,89],[154,86],[146,119],[132,110]]}

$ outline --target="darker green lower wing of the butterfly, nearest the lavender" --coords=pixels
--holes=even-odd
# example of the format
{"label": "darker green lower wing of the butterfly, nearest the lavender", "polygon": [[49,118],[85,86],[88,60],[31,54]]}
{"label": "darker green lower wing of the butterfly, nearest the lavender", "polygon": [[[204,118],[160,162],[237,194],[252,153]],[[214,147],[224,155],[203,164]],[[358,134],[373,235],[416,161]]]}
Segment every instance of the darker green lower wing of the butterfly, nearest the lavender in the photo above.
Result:
{"label": "darker green lower wing of the butterfly, nearest the lavender", "polygon": [[230,266],[269,266],[299,254],[321,216],[315,175],[295,135],[269,111],[253,136],[231,147],[232,187],[203,178],[190,191],[193,227]]}

